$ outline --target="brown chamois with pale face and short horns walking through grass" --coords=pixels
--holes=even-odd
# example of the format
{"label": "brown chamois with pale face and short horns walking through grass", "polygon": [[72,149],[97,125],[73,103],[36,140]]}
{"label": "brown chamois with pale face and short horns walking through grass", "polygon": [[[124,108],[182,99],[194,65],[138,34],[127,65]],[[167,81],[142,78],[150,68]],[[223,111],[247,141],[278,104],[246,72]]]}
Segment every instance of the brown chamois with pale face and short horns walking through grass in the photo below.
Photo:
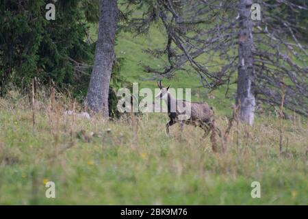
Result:
{"label": "brown chamois with pale face and short horns walking through grass", "polygon": [[[170,121],[166,124],[166,133],[170,136],[169,127],[179,123],[181,131],[183,131],[183,125],[194,125],[195,127],[201,127],[205,131],[202,138],[206,138],[211,131],[211,143],[213,151],[218,151],[216,142],[216,133],[221,136],[220,130],[215,126],[214,111],[212,107],[209,107],[207,103],[189,102],[185,100],[175,99],[170,92],[168,92],[170,86],[165,88],[162,86],[162,80],[157,81],[157,86],[160,88],[157,94],[157,99],[163,99],[168,107],[168,116]],[[181,115],[185,115],[185,111],[181,107],[190,107],[190,118],[181,119]],[[187,109],[187,108],[186,108]]]}

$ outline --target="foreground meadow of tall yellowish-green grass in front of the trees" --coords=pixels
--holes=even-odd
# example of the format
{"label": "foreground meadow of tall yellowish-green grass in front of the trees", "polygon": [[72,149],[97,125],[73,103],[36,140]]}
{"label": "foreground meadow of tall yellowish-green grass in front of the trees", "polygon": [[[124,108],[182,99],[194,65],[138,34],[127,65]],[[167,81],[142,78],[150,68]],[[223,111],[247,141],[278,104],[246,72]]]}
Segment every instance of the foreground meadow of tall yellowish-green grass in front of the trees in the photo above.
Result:
{"label": "foreground meadow of tall yellowish-green grass in front of the trees", "polygon": [[[307,205],[307,124],[284,122],[280,155],[279,120],[259,117],[253,127],[239,126],[238,145],[233,127],[223,155],[211,151],[209,138],[200,141],[198,128],[185,126],[181,135],[175,125],[168,138],[166,114],[140,116],[136,132],[129,116],[72,125],[60,102],[55,114],[36,113],[33,132],[24,102],[0,100],[2,205]],[[227,120],[217,123],[224,130]],[[46,181],[55,182],[56,198],[45,197]],[[253,181],[261,198],[251,198]]]}

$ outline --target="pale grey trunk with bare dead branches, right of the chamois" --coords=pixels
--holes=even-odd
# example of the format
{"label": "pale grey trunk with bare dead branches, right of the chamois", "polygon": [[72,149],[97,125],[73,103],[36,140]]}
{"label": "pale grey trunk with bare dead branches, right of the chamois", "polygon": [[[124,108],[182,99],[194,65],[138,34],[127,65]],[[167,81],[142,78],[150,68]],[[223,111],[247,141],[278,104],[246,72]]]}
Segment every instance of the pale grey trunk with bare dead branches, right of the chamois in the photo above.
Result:
{"label": "pale grey trunk with bare dead branches, right of the chamois", "polygon": [[238,95],[236,98],[236,104],[240,108],[240,120],[249,125],[253,125],[255,114],[251,5],[251,0],[240,1]]}

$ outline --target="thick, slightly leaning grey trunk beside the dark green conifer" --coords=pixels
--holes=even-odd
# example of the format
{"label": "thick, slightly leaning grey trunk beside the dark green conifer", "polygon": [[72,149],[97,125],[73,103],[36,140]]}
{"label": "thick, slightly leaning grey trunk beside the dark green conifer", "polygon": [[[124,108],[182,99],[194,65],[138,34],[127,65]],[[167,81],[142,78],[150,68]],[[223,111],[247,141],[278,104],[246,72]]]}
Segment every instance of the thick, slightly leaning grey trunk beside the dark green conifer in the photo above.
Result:
{"label": "thick, slightly leaning grey trunk beside the dark green conifer", "polygon": [[118,14],[116,0],[100,0],[99,10],[99,38],[96,44],[86,105],[93,112],[101,112],[103,116],[107,117],[109,116],[108,96],[114,62],[114,42]]}

